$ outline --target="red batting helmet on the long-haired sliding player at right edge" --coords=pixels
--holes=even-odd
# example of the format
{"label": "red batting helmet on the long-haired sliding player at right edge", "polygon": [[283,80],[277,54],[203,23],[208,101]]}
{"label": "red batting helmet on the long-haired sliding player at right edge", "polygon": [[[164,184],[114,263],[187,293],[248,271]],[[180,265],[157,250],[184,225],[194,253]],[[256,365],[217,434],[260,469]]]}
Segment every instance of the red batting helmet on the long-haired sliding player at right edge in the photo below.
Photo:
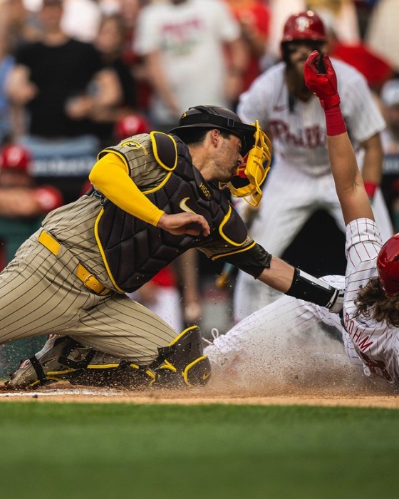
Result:
{"label": "red batting helmet on the long-haired sliding player at right edge", "polygon": [[385,242],[377,258],[378,277],[385,294],[399,292],[399,234]]}

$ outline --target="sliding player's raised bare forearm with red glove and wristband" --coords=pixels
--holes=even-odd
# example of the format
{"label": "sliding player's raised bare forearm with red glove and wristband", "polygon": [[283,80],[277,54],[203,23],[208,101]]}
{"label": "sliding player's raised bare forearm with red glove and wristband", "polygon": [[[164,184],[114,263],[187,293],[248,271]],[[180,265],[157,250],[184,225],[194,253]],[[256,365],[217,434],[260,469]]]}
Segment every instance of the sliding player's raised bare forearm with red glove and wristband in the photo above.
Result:
{"label": "sliding player's raised bare forearm with red glove and wristband", "polygon": [[328,156],[343,219],[346,224],[363,217],[374,220],[356,156],[346,133],[336,73],[327,54],[323,56],[326,73],[319,73],[316,67],[318,58],[317,51],[311,53],[304,66],[304,76],[306,86],[318,96],[326,115]]}

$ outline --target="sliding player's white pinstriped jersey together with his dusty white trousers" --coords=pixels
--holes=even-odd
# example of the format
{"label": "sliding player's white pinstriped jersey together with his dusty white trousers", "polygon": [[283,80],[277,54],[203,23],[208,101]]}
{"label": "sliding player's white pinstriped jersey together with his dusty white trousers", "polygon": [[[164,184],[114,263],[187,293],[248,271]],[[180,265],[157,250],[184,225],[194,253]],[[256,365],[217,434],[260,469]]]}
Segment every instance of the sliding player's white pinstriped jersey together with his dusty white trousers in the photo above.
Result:
{"label": "sliding player's white pinstriped jersey together with his dusty white trousers", "polygon": [[[353,317],[359,288],[377,275],[376,259],[381,245],[380,232],[372,220],[353,220],[346,227],[345,328],[338,314],[283,295],[240,321],[204,349],[212,368],[222,374],[229,374],[233,369],[254,386],[253,383],[259,384],[267,376],[288,376],[293,369],[300,377],[308,373],[310,379],[318,369],[323,376],[324,373],[328,376],[327,371],[341,369],[345,372],[342,380],[345,383],[358,372],[353,371],[358,369],[353,364],[357,364],[363,367],[366,376],[398,385],[399,329],[374,319]],[[326,276],[323,280],[338,289],[344,287],[343,276]],[[338,342],[328,339],[320,328],[321,322],[342,331],[351,362],[343,359]]]}

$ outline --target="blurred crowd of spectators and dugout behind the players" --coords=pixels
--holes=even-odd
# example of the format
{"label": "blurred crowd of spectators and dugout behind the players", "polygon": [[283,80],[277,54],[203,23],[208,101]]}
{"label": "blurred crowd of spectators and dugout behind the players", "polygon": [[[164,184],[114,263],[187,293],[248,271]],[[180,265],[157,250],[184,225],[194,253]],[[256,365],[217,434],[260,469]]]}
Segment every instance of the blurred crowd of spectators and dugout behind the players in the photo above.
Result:
{"label": "blurred crowd of spectators and dugout behind the players", "polygon": [[[381,187],[399,232],[399,0],[0,0],[1,266],[48,211],[88,190],[102,148],[167,132],[190,106],[236,110],[281,61],[286,19],[306,9],[323,19],[328,52],[363,73],[385,118]],[[162,303],[157,312],[182,330],[206,321],[201,289],[216,277],[191,254],[134,298]],[[207,294],[226,304],[226,329],[233,292],[232,277]]]}

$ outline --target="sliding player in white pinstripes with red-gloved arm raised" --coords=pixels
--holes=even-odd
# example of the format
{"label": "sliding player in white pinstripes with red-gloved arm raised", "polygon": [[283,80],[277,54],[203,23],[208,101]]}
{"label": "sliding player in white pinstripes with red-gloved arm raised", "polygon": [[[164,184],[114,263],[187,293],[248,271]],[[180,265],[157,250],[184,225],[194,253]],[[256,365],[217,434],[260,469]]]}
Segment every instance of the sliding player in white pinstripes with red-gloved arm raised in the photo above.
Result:
{"label": "sliding player in white pinstripes with red-gloved arm raised", "polygon": [[[363,367],[368,378],[398,386],[399,235],[393,235],[384,245],[381,242],[368,192],[346,132],[336,72],[328,56],[324,55],[326,74],[319,73],[318,60],[318,52],[311,53],[304,66],[304,75],[306,85],[320,99],[325,115],[328,155],[346,223],[348,264],[343,313],[340,314],[343,326],[338,314],[282,297],[244,319],[225,336],[219,336],[205,353],[211,364],[220,369],[231,369],[239,364],[242,354],[251,357],[252,365],[261,368],[262,356],[267,356],[273,336],[284,334],[284,331],[288,336],[290,331],[298,335],[311,324],[323,321],[341,329],[349,358]],[[340,280],[343,284],[343,279]],[[302,335],[302,341],[306,343],[306,334]]]}

